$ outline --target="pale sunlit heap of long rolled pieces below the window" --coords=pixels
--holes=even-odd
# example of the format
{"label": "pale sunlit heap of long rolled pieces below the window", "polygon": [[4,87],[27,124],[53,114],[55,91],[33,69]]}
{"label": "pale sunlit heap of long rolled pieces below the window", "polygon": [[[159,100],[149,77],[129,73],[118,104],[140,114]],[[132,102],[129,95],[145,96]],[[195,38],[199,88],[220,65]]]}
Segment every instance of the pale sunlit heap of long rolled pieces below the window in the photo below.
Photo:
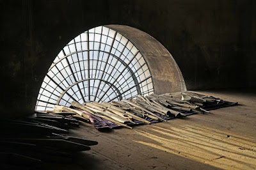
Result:
{"label": "pale sunlit heap of long rolled pieces below the window", "polygon": [[[87,102],[81,105],[75,101],[72,108],[55,105],[52,112],[73,112],[83,121],[92,121],[92,116],[111,121],[116,125],[132,128],[132,125],[150,124],[166,121],[195,113],[209,112],[204,105],[218,104],[220,98],[208,97],[191,92],[152,94],[149,97],[138,95],[136,98],[118,102]],[[92,121],[93,122],[93,121]]]}

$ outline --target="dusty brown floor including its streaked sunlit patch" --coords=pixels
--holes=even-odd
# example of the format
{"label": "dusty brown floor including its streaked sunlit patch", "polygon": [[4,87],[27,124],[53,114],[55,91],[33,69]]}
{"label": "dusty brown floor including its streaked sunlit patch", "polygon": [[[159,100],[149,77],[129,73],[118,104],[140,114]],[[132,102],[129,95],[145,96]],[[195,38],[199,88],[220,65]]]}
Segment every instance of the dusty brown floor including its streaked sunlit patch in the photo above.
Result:
{"label": "dusty brown floor including its streaked sunlit patch", "polygon": [[64,169],[256,169],[256,93],[200,91],[239,102],[210,114],[99,132],[83,124],[72,134],[98,141]]}

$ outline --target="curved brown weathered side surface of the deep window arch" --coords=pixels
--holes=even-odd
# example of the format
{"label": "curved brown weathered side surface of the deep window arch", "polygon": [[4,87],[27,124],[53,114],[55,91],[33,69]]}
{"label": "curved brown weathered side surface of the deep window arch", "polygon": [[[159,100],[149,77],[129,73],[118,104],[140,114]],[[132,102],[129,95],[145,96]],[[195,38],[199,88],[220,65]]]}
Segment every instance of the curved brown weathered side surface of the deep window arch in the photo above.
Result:
{"label": "curved brown weathered side surface of the deep window arch", "polygon": [[107,25],[126,36],[140,50],[147,61],[157,94],[186,91],[186,84],[180,68],[172,54],[154,37],[134,27]]}

